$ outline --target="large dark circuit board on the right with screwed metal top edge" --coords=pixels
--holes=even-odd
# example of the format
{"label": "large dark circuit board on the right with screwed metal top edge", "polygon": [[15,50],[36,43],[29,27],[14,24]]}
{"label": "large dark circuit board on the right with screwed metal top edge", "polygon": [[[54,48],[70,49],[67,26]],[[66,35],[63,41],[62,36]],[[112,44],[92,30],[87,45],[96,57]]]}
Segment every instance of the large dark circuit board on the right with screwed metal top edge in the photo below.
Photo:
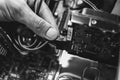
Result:
{"label": "large dark circuit board on the right with screwed metal top edge", "polygon": [[73,12],[70,20],[72,25],[62,28],[63,32],[67,29],[66,35],[61,34],[63,41],[55,42],[57,48],[102,63],[118,64],[119,16],[85,8],[82,13]]}

